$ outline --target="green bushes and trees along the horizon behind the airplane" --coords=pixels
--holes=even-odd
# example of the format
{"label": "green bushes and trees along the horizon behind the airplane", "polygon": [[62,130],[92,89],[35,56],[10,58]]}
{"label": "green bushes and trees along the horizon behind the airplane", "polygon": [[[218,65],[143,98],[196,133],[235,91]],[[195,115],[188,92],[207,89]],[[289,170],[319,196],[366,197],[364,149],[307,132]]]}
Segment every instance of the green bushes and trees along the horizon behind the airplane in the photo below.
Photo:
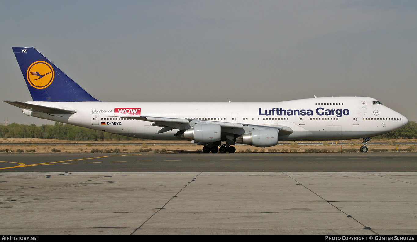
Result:
{"label": "green bushes and trees along the horizon behind the airplane", "polygon": [[[58,122],[55,122],[55,125],[43,124],[42,126],[36,126],[35,124],[25,125],[16,123],[9,124],[8,126],[0,125],[0,137],[60,139],[74,141],[137,140],[137,138],[110,134],[103,131],[82,128],[70,124],[62,124]],[[376,136],[373,139],[417,139],[417,123],[414,121],[409,121],[408,124],[403,128],[389,134]]]}

